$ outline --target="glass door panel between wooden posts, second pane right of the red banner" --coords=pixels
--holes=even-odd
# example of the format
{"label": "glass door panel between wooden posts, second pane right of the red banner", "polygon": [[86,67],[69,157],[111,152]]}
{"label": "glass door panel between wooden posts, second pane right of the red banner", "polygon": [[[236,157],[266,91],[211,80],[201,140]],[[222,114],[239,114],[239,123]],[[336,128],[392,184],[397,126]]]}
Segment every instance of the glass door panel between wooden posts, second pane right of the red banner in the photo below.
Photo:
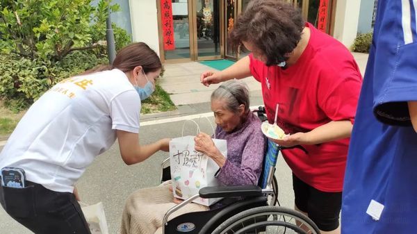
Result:
{"label": "glass door panel between wooden posts, second pane right of the red banner", "polygon": [[222,58],[222,0],[194,0],[195,60]]}

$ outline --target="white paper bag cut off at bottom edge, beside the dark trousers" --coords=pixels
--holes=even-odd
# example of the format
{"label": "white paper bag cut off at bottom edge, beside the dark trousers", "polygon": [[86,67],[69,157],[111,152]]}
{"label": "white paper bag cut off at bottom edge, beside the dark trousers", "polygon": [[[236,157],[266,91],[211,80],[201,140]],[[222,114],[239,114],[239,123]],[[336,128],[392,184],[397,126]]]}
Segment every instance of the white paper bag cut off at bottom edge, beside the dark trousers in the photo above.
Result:
{"label": "white paper bag cut off at bottom edge, beside the dark trousers", "polygon": [[95,205],[84,206],[81,210],[83,210],[84,217],[87,219],[91,234],[108,234],[103,203],[99,202]]}

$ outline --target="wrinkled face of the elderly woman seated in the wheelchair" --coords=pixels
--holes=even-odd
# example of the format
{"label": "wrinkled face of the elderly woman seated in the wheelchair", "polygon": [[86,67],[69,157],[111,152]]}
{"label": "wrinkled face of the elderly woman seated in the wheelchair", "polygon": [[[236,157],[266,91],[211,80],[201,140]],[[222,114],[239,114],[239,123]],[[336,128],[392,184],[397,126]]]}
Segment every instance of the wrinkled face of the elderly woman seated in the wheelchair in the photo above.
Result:
{"label": "wrinkled face of the elderly woman seated in the wheelchair", "polygon": [[224,99],[214,99],[211,101],[211,110],[214,112],[215,124],[229,133],[242,123],[245,106],[240,105],[234,112],[227,108],[227,101]]}

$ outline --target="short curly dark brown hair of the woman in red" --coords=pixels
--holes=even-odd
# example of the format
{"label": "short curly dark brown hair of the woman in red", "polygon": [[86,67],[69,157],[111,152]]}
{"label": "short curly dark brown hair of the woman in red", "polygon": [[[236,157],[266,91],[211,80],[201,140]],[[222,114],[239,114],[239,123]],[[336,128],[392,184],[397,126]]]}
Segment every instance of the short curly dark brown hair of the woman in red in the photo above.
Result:
{"label": "short curly dark brown hair of the woman in red", "polygon": [[280,0],[252,0],[234,25],[229,42],[238,51],[250,42],[266,57],[266,65],[288,59],[301,39],[304,20],[300,10]]}

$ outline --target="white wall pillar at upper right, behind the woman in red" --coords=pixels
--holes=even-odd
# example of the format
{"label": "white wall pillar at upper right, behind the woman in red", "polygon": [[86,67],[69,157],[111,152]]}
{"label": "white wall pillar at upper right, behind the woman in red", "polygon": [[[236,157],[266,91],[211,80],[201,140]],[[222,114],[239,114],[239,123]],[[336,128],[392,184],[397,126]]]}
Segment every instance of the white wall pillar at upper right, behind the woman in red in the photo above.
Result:
{"label": "white wall pillar at upper right, behind the woman in red", "polygon": [[333,36],[349,49],[357,37],[360,8],[361,0],[337,0]]}

